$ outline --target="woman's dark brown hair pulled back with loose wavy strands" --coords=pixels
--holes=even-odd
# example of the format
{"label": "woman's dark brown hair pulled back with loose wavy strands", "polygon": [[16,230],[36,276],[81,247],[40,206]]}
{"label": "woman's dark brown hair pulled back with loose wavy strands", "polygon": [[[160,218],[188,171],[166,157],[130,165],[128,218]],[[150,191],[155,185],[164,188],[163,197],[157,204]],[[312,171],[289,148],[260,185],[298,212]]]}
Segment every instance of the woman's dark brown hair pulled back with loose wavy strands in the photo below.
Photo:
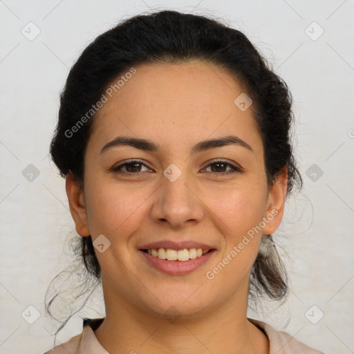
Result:
{"label": "woman's dark brown hair pulled back with loose wavy strands", "polygon": [[[50,145],[51,158],[61,176],[72,171],[77,183],[83,186],[84,151],[95,115],[84,120],[73,137],[72,128],[100,100],[113,80],[139,64],[195,59],[226,69],[251,97],[252,113],[263,141],[268,186],[286,166],[287,197],[295,183],[301,189],[302,179],[290,141],[292,97],[286,83],[239,30],[216,19],[169,10],[122,21],[89,44],[71,68],[60,95],[59,120]],[[80,250],[76,251],[80,251],[87,277],[100,281],[100,264],[91,236],[82,237]],[[251,271],[250,296],[265,294],[279,300],[287,291],[286,271],[276,248],[259,252]],[[57,295],[46,306],[49,314]]]}

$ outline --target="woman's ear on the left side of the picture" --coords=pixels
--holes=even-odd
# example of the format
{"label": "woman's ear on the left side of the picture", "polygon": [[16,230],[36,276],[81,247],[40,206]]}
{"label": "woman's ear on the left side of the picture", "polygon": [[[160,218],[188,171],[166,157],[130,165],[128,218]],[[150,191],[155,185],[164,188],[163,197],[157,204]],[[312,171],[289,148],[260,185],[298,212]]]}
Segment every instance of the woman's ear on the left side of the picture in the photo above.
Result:
{"label": "woman's ear on the left side of the picture", "polygon": [[71,216],[75,221],[75,230],[80,236],[90,236],[84,190],[77,184],[71,171],[66,174],[65,182]]}

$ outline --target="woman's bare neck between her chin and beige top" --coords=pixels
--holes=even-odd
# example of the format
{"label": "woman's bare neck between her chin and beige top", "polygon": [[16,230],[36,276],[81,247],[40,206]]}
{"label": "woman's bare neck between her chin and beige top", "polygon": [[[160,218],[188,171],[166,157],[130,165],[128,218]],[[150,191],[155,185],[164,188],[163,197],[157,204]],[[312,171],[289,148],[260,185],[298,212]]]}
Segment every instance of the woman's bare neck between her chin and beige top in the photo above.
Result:
{"label": "woman's bare neck between her chin and beige top", "polygon": [[147,314],[125,299],[104,294],[106,318],[94,333],[110,354],[269,353],[265,334],[248,322],[247,292],[207,313],[174,319]]}

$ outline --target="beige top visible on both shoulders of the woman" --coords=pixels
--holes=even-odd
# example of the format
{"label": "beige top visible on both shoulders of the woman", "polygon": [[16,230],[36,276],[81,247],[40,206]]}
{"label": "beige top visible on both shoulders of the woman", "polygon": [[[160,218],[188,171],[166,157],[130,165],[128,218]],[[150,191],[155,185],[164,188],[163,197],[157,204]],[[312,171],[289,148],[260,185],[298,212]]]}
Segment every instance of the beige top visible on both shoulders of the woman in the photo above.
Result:
{"label": "beige top visible on both shoulders of the woman", "polygon": [[[288,333],[275,330],[269,324],[255,319],[249,320],[267,335],[270,343],[269,354],[324,354],[298,342]],[[80,335],[71,338],[64,344],[55,346],[44,354],[109,354],[93,333],[93,330],[98,328],[102,321],[103,319],[84,320],[84,328]]]}

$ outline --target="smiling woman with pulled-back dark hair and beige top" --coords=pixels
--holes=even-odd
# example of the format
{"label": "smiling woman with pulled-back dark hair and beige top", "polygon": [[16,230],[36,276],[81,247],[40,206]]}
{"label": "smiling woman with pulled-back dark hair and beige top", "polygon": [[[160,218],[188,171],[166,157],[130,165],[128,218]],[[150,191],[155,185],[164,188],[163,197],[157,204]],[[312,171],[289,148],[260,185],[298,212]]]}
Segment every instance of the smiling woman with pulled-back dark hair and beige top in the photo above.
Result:
{"label": "smiling woman with pulled-back dark hair and beige top", "polygon": [[319,353],[247,317],[288,290],[271,234],[302,185],[291,124],[286,83],[218,21],[162,11],[97,37],[50,152],[106,317],[47,353]]}

